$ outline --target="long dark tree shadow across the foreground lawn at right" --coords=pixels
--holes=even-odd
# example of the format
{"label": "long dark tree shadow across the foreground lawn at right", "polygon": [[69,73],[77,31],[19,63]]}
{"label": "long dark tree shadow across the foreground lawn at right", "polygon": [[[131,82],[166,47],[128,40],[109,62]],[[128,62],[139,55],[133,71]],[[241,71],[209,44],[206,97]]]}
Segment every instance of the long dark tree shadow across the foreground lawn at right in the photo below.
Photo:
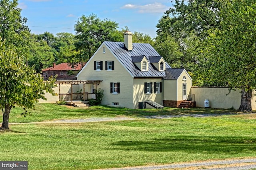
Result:
{"label": "long dark tree shadow across the foreground lawn at right", "polygon": [[205,154],[235,154],[255,152],[256,138],[176,136],[169,139],[145,141],[119,141],[112,143],[114,149],[142,150],[151,152],[204,152]]}

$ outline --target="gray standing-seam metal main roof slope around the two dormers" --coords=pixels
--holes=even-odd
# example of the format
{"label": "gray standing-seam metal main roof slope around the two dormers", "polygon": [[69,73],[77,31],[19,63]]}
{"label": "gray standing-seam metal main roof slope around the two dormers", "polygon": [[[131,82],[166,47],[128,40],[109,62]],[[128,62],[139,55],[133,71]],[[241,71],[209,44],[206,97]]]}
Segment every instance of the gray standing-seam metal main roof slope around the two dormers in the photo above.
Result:
{"label": "gray standing-seam metal main roof slope around the two dormers", "polygon": [[[122,42],[110,42],[104,41],[106,46],[116,55],[116,57],[120,60],[120,62],[126,67],[127,70],[131,72],[134,77],[165,77],[166,73],[164,71],[158,71],[156,68],[152,66],[152,64],[148,64],[148,71],[141,71],[132,61],[132,56],[145,56],[150,63],[149,57],[161,57],[156,50],[150,45],[146,43],[133,43],[133,49],[131,52],[128,52],[124,47],[124,43]],[[153,58],[152,58],[153,59]],[[154,60],[154,59],[153,59]],[[168,63],[166,63],[166,69],[171,68]]]}

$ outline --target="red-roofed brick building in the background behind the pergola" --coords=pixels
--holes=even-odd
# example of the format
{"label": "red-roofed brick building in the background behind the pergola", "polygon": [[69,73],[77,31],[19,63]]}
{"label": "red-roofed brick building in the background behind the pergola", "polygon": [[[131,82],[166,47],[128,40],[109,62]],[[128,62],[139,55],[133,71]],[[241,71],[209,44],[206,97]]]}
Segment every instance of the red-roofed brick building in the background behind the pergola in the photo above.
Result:
{"label": "red-roofed brick building in the background behind the pergola", "polygon": [[76,64],[72,67],[71,63],[53,63],[52,67],[42,70],[44,80],[48,80],[50,76],[55,76],[56,80],[76,80],[76,74],[82,69],[82,64]]}

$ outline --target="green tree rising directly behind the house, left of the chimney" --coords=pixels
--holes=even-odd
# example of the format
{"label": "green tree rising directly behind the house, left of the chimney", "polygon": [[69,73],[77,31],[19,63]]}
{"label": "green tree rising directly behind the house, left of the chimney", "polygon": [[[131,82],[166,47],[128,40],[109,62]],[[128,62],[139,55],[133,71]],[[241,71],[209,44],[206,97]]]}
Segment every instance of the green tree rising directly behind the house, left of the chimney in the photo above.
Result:
{"label": "green tree rising directly behind the house, left of the chimney", "polygon": [[76,31],[76,49],[80,55],[76,58],[77,63],[84,63],[100,47],[103,41],[113,41],[113,33],[117,31],[118,23],[110,20],[100,20],[96,14],[78,18],[74,26]]}

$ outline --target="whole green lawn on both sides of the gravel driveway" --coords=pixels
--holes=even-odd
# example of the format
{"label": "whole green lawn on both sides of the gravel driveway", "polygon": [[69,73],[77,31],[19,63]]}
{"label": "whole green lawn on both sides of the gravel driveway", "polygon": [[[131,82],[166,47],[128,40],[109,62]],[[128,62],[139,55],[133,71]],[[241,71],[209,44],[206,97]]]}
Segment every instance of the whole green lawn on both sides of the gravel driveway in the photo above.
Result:
{"label": "whole green lawn on both sides of the gravel driveway", "polygon": [[[230,113],[216,109],[67,108],[38,104],[12,122],[86,117]],[[56,115],[55,115],[56,114]],[[256,115],[177,117],[72,124],[10,125],[0,132],[1,160],[27,160],[30,170],[81,170],[256,156]],[[5,156],[3,156],[5,155]]]}

